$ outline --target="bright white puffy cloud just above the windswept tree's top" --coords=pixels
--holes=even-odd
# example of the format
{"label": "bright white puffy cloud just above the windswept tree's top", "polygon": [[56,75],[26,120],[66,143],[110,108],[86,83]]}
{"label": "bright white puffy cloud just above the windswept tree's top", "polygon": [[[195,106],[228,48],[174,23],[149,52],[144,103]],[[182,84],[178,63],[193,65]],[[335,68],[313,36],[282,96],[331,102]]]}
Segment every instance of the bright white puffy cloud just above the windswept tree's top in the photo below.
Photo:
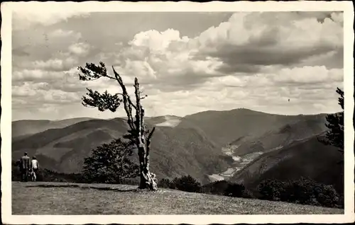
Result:
{"label": "bright white puffy cloud just above the windswept tree's top", "polygon": [[112,56],[123,74],[137,76],[145,83],[167,85],[168,81],[173,86],[186,86],[219,76],[216,69],[222,64],[214,57],[193,60],[196,43],[180,37],[178,30],[148,30],[136,34],[127,47]]}

